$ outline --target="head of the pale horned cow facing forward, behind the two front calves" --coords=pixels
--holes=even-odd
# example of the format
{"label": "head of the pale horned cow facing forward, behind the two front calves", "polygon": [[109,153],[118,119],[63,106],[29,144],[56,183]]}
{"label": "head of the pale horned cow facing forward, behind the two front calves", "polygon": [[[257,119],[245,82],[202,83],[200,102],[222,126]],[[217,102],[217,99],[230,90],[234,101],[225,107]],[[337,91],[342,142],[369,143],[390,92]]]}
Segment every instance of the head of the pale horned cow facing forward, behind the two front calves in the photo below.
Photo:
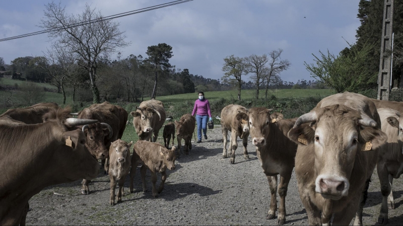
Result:
{"label": "head of the pale horned cow facing forward, behind the two front calves", "polygon": [[140,112],[131,111],[130,115],[133,117],[133,126],[136,128],[136,131],[138,130],[138,128],[140,128],[140,131],[137,131],[137,134],[152,133],[154,116],[158,115],[159,120],[161,120],[160,113],[158,112],[158,110],[150,107],[136,108],[140,110]]}

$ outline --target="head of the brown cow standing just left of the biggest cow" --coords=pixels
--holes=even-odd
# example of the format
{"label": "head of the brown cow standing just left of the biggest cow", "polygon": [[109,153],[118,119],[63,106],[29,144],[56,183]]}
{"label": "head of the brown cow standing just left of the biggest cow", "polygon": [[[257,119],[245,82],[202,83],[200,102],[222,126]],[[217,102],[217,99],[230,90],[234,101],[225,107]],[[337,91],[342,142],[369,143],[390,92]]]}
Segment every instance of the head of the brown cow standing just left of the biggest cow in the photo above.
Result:
{"label": "head of the brown cow standing just left of the biggest cow", "polygon": [[249,109],[249,131],[252,144],[256,147],[266,145],[265,135],[270,132],[270,111],[265,107],[252,107]]}

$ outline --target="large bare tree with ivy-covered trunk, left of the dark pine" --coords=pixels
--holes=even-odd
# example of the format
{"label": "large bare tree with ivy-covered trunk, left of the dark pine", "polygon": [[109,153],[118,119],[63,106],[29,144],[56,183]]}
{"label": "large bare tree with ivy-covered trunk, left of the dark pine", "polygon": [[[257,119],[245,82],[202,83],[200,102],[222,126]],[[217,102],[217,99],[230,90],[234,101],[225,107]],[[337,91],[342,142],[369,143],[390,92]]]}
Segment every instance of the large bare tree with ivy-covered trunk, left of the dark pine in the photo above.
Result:
{"label": "large bare tree with ivy-covered trunk, left of the dark pine", "polygon": [[[45,19],[41,20],[41,28],[51,29],[48,36],[60,45],[69,47],[79,55],[79,65],[88,72],[93,101],[99,103],[99,91],[96,84],[97,60],[106,58],[117,52],[118,48],[128,46],[124,41],[124,32],[119,31],[119,23],[102,19],[103,16],[96,9],[86,4],[82,14],[69,15],[65,8],[53,2],[45,6]],[[80,25],[80,26],[72,26]],[[55,39],[57,38],[57,39]]]}

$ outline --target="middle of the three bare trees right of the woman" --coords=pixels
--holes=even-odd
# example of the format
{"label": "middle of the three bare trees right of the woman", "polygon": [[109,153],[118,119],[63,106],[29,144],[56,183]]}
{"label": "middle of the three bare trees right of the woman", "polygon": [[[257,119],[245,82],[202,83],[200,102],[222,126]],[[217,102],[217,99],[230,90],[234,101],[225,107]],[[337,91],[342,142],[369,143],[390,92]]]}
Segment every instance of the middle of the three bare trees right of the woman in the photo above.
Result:
{"label": "middle of the three bare trees right of the woman", "polygon": [[254,73],[254,75],[250,76],[250,78],[254,81],[256,85],[256,94],[255,98],[259,98],[259,86],[261,85],[262,73],[264,72],[264,65],[267,63],[268,58],[267,54],[262,54],[258,56],[256,54],[252,54],[245,58],[246,68],[249,73]]}

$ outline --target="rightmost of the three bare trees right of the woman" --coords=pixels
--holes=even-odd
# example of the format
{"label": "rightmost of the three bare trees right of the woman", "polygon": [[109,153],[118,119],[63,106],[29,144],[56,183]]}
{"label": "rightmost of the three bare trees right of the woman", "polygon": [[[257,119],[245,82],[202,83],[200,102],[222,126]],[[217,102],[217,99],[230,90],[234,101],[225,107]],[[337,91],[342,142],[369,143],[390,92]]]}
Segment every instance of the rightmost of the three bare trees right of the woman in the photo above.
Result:
{"label": "rightmost of the three bare trees right of the woman", "polygon": [[288,60],[281,59],[282,49],[273,50],[268,54],[268,65],[262,71],[263,82],[266,85],[265,98],[267,99],[268,85],[275,80],[278,80],[280,72],[287,70],[291,63]]}

